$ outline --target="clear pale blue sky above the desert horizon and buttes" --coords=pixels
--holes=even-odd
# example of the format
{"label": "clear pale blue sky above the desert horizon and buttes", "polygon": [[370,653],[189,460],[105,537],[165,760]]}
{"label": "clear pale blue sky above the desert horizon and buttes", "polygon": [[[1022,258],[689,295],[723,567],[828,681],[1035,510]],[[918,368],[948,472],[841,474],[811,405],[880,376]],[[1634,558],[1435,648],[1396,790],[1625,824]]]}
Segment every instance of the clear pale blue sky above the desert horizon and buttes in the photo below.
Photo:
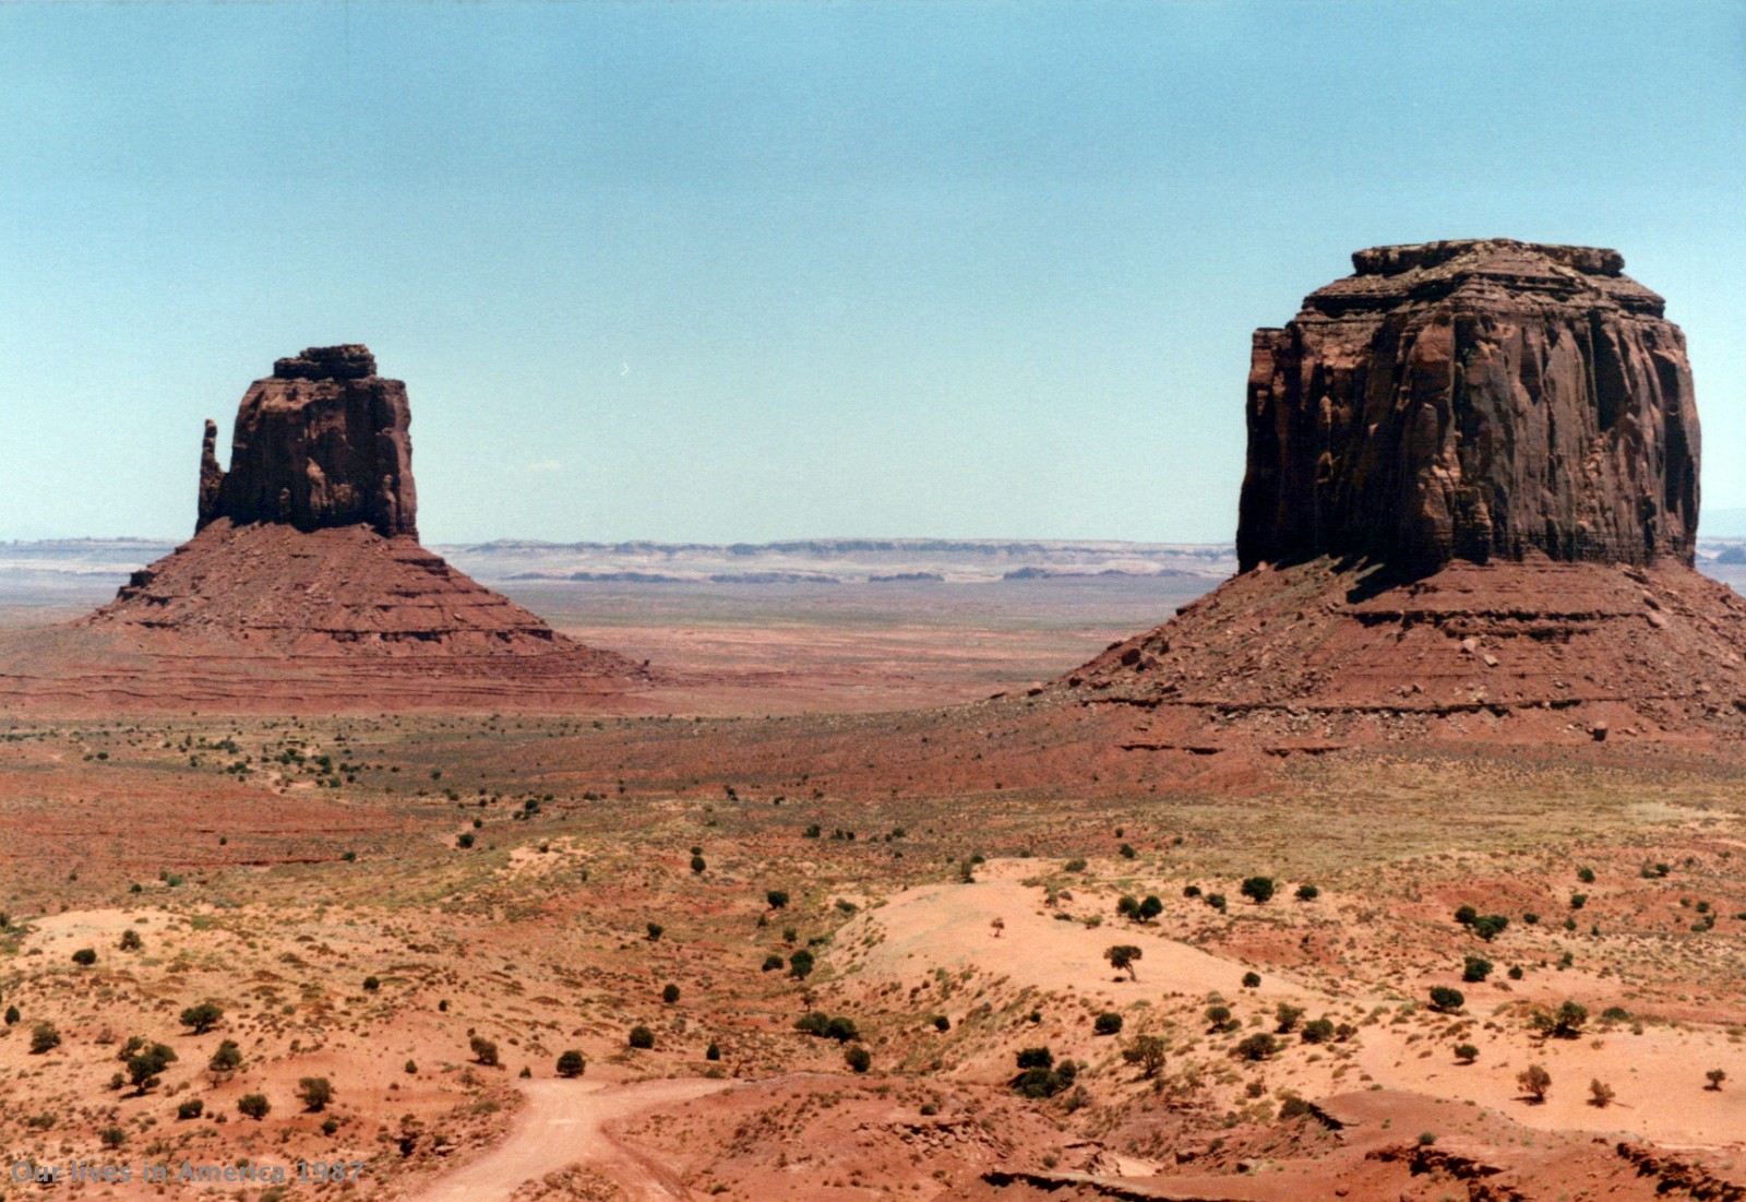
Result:
{"label": "clear pale blue sky above the desert horizon and buttes", "polygon": [[428,542],[1227,540],[1250,332],[1465,236],[1622,250],[1746,505],[1746,3],[5,3],[0,538],[349,341]]}

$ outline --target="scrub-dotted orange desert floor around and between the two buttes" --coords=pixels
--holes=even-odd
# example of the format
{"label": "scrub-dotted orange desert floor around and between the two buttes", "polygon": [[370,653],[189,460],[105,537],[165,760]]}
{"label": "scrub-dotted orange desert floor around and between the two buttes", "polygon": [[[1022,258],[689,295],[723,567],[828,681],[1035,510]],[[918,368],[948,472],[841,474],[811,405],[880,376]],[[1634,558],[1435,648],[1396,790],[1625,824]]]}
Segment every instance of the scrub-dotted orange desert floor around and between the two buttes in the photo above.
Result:
{"label": "scrub-dotted orange desert floor around and between the two buttes", "polygon": [[1187,598],[913,592],[519,596],[630,715],[0,718],[0,1197],[1743,1197],[1746,760],[1123,751],[1027,687]]}

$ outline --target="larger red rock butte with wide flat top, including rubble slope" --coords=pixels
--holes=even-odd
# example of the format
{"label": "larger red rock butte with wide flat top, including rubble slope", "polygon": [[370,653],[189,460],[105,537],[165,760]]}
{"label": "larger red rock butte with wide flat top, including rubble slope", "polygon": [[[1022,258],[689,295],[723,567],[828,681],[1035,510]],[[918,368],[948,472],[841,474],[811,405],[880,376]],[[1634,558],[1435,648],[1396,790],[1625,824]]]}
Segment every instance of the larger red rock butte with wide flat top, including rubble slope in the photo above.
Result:
{"label": "larger red rock butte with wide flat top, including rubble slope", "polygon": [[1058,681],[1133,748],[1737,739],[1680,328],[1613,250],[1379,246],[1254,337],[1241,573]]}

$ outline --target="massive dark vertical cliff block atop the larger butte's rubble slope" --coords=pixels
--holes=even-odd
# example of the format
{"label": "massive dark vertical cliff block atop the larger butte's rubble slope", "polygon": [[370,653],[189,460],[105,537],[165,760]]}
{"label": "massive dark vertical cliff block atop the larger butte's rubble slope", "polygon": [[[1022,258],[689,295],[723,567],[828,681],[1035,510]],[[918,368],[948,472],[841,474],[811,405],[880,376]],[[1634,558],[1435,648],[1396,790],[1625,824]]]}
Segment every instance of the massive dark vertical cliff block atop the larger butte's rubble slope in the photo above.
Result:
{"label": "massive dark vertical cliff block atop the larger butte's rubble slope", "polygon": [[1619,252],[1510,239],[1378,246],[1255,332],[1236,547],[1692,564],[1685,337]]}

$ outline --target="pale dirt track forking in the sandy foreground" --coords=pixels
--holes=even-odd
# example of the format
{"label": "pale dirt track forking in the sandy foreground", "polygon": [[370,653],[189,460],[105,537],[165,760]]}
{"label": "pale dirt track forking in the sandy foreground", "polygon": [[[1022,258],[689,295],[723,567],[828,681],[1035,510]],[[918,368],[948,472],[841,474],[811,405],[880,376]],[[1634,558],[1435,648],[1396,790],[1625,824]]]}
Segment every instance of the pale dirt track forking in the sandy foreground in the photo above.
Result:
{"label": "pale dirt track forking in the sandy foreground", "polygon": [[520,1087],[527,1106],[510,1136],[473,1164],[430,1183],[410,1202],[496,1202],[526,1181],[576,1164],[618,1185],[630,1202],[688,1199],[676,1174],[615,1141],[606,1123],[730,1085],[704,1078],[636,1085],[529,1081]]}

